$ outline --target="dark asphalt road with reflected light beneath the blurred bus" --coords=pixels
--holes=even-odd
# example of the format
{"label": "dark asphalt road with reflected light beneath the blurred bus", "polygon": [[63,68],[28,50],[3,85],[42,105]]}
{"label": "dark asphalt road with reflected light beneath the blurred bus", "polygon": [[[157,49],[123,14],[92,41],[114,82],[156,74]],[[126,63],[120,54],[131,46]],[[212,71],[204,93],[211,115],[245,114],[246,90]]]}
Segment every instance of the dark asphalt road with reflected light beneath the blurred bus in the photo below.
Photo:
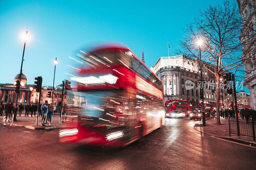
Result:
{"label": "dark asphalt road with reflected light beneath the blurred bus", "polygon": [[256,149],[198,132],[189,118],[121,149],[59,143],[58,129],[0,124],[0,169],[256,169]]}

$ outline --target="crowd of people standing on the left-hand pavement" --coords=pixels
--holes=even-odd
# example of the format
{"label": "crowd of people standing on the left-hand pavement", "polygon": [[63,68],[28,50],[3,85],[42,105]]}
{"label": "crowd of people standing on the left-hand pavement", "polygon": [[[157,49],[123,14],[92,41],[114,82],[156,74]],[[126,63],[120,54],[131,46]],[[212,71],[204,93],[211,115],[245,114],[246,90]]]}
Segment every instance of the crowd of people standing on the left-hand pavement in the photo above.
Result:
{"label": "crowd of people standing on the left-hand pavement", "polygon": [[[47,112],[45,111],[44,107],[46,106],[47,108]],[[24,112],[25,110],[25,112]],[[36,104],[27,104],[27,105],[23,105],[22,103],[19,105],[17,102],[13,104],[13,102],[7,102],[5,105],[3,104],[3,102],[0,102],[0,116],[3,116],[3,113],[5,113],[6,118],[8,117],[8,114],[13,113],[14,117],[13,120],[16,121],[16,116],[17,116],[17,112],[19,112],[19,116],[22,115],[22,113],[24,112],[25,116],[29,116],[29,112],[31,117],[36,116],[36,112],[37,112],[37,105]],[[42,116],[42,126],[45,126],[44,124],[46,122],[49,123],[49,125],[51,125],[52,122],[52,115],[56,112],[60,112],[60,107],[59,106],[55,106],[52,104],[49,104],[47,101],[42,104],[41,107],[38,107],[38,114],[39,116]],[[43,122],[44,120],[44,122]]]}

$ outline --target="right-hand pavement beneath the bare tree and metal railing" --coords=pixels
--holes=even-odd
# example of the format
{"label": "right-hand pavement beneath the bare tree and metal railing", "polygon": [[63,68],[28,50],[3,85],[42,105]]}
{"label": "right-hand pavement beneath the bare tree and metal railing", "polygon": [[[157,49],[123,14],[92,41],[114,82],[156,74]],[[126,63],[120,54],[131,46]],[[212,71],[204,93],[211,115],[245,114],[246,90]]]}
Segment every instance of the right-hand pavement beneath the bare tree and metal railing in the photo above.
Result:
{"label": "right-hand pavement beneath the bare tree and metal railing", "polygon": [[[195,129],[199,132],[206,133],[215,137],[220,137],[244,144],[251,144],[256,146],[256,142],[253,141],[252,137],[242,136],[237,137],[236,134],[231,134],[229,137],[229,127],[228,127],[228,118],[220,118],[221,125],[216,124],[217,119],[210,119],[206,121],[206,126],[203,126],[199,123],[195,124]],[[241,120],[245,121],[245,120]]]}

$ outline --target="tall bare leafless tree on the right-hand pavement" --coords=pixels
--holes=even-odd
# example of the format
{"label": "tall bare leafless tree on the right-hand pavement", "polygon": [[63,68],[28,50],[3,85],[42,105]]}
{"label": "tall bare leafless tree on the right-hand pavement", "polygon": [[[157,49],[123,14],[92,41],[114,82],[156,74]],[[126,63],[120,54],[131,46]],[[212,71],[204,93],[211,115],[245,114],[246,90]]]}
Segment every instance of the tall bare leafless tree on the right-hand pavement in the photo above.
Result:
{"label": "tall bare leafless tree on the right-hand pavement", "polygon": [[216,6],[210,5],[204,11],[199,10],[198,15],[187,25],[184,29],[186,35],[180,41],[181,48],[176,50],[177,54],[194,57],[199,63],[196,41],[198,37],[203,40],[201,56],[204,70],[201,71],[206,71],[208,78],[217,80],[217,124],[220,124],[220,77],[228,71],[243,72],[248,62],[248,58],[242,58],[242,42],[239,40],[242,28],[237,4],[225,1]]}

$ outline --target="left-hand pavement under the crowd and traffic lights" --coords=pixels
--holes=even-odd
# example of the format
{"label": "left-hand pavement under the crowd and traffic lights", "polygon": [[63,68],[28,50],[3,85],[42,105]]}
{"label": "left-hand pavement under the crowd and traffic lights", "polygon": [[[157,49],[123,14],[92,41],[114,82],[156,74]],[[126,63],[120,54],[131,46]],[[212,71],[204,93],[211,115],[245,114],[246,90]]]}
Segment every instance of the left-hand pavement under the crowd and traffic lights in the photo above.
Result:
{"label": "left-hand pavement under the crowd and traffic lights", "polygon": [[[33,115],[34,116],[34,115]],[[0,116],[1,123],[3,121],[4,116]],[[49,129],[58,129],[61,128],[61,125],[59,124],[60,122],[60,115],[53,115],[52,116],[52,123],[51,126],[46,123],[46,126],[41,126],[41,120],[42,117],[38,117],[38,125],[36,125],[36,116],[31,117],[29,114],[29,117],[25,117],[24,114],[21,116],[17,115],[17,121],[13,122],[14,126],[20,126],[28,129],[33,129],[33,130],[49,130]]]}

